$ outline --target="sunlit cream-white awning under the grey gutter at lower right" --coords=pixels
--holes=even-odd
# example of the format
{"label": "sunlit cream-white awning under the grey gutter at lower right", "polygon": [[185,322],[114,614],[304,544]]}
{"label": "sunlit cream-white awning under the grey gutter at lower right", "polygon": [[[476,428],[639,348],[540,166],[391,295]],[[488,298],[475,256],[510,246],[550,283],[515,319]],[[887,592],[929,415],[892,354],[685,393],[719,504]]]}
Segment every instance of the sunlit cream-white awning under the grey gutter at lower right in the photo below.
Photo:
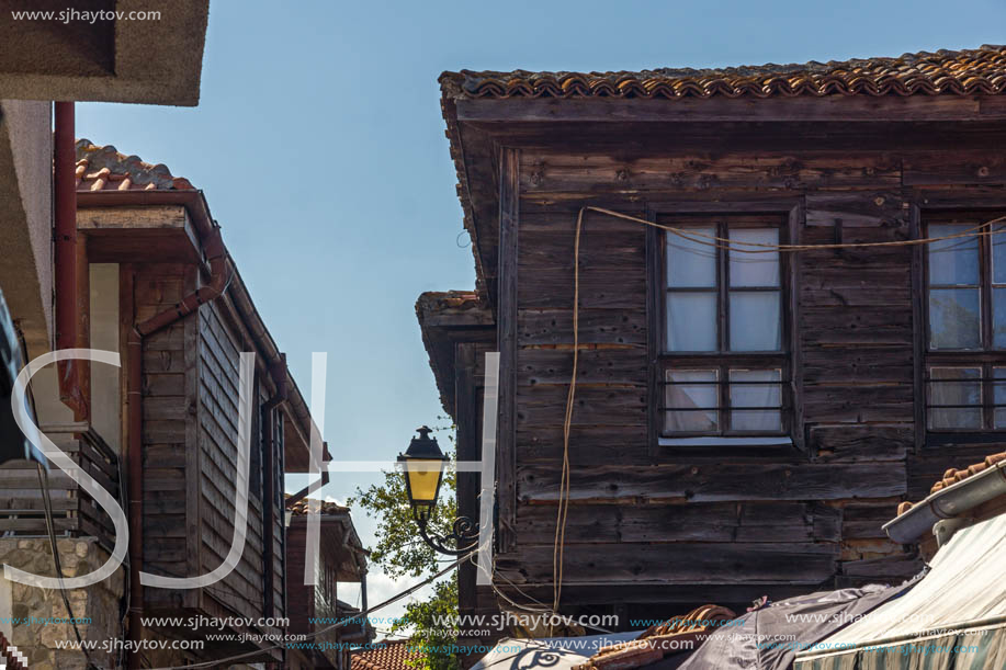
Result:
{"label": "sunlit cream-white awning under the grey gutter at lower right", "polygon": [[959,531],[930,568],[904,595],[801,651],[796,670],[1006,669],[1006,514]]}

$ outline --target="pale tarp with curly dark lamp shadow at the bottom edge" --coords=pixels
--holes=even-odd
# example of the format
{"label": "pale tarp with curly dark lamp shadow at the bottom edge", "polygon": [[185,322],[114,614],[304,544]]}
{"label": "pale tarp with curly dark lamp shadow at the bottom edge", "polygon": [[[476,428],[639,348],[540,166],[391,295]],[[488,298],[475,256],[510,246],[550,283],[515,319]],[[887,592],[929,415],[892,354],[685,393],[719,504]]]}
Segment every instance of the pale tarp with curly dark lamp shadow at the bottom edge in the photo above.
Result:
{"label": "pale tarp with curly dark lamp shadow at the bottom edge", "polygon": [[642,631],[586,635],[583,637],[550,637],[523,639],[508,637],[489,647],[472,670],[570,670],[597,654],[601,647],[635,639]]}

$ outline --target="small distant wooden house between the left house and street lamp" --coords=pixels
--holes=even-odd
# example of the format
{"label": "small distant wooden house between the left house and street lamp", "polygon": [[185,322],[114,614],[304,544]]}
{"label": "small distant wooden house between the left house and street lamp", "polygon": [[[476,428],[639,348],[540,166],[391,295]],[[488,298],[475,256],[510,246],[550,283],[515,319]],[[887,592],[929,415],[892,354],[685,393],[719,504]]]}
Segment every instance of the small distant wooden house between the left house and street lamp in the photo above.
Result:
{"label": "small distant wooden house between the left house and street lamp", "polygon": [[[316,584],[304,583],[308,506],[320,514],[319,560]],[[374,629],[362,621],[366,610],[366,556],[353,526],[349,508],[329,501],[287,498],[286,563],[291,580],[287,593],[290,635],[314,635],[316,648],[294,649],[298,665],[287,667],[349,670],[353,648],[374,638]],[[339,600],[339,582],[360,583],[360,607]],[[338,628],[325,632],[337,622]],[[344,623],[343,623],[344,622]]]}

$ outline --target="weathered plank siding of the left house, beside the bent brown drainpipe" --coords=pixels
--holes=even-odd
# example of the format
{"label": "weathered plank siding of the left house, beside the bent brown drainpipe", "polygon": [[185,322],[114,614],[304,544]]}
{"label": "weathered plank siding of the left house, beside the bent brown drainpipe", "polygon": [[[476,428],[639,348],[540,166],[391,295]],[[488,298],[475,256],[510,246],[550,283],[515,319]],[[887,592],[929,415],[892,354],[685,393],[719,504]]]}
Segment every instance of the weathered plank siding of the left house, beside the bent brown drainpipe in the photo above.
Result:
{"label": "weathered plank siding of the left house, beside the bent brown drainpipe", "polygon": [[[168,309],[196,285],[192,265],[135,268],[133,308],[143,321]],[[128,286],[128,282],[124,282]],[[251,349],[219,303],[203,305],[144,339],[144,569],[172,577],[216,569],[234,536],[237,479],[239,355]],[[251,448],[262,444],[260,407],[265,390],[256,385]],[[282,454],[282,443],[279,447]],[[282,456],[280,456],[280,459]],[[202,593],[145,589],[152,609],[194,607],[240,616],[283,616],[285,552],[281,511],[273,514],[274,564],[262,563],[262,472],[249,491],[245,549],[236,568]],[[275,466],[280,468],[282,461]],[[264,592],[275,593],[275,611],[264,613]],[[211,605],[210,600],[217,604]],[[223,607],[223,609],[221,609]]]}

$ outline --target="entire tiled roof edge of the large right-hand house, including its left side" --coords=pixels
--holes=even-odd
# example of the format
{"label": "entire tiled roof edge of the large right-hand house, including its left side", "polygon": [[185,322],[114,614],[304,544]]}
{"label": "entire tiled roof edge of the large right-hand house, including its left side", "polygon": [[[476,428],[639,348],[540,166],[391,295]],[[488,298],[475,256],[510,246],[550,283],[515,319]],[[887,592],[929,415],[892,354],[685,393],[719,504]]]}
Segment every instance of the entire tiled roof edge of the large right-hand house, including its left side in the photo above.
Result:
{"label": "entire tiled roof edge of the large right-hand house, including its left side", "polygon": [[[482,249],[476,228],[474,190],[485,180],[488,166],[473,170],[462,141],[457,103],[471,99],[683,100],[765,99],[815,96],[970,95],[1006,92],[1006,46],[976,49],[919,52],[897,58],[861,58],[801,65],[732,67],[720,69],[657,68],[638,72],[510,72],[461,70],[440,76],[441,111],[447,123],[451,158],[457,175],[464,228],[472,239],[475,288],[491,300],[496,260],[491,248]],[[696,109],[701,118],[700,109]],[[520,115],[516,113],[515,121]],[[613,120],[613,117],[612,117]],[[795,121],[795,120],[794,120]],[[546,124],[547,125],[547,124]],[[484,132],[484,130],[479,130]],[[482,148],[481,150],[484,150]],[[474,155],[473,155],[474,156]],[[491,207],[488,207],[491,211]],[[484,226],[491,227],[488,215]],[[478,222],[479,226],[483,226]]]}

